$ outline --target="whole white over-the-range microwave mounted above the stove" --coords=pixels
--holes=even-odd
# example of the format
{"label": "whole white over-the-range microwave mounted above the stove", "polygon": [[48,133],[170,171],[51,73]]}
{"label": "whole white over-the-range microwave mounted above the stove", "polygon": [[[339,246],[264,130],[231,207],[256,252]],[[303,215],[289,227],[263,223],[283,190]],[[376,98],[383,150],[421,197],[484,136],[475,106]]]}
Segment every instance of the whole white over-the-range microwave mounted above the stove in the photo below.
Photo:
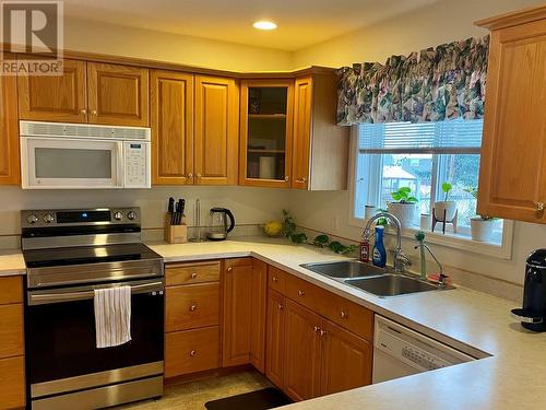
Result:
{"label": "whole white over-the-range microwave mounted above the stove", "polygon": [[151,188],[143,127],[20,121],[24,189]]}

